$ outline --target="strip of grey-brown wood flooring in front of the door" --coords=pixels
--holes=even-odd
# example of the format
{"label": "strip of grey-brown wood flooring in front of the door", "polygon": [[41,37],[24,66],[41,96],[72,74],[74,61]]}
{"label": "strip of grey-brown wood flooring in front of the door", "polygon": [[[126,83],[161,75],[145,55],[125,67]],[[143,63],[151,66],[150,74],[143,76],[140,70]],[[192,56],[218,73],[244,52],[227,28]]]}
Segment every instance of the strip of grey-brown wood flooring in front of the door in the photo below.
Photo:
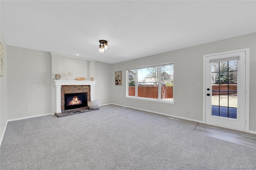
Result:
{"label": "strip of grey-brown wood flooring in front of the door", "polygon": [[194,132],[256,148],[256,134],[198,123]]}

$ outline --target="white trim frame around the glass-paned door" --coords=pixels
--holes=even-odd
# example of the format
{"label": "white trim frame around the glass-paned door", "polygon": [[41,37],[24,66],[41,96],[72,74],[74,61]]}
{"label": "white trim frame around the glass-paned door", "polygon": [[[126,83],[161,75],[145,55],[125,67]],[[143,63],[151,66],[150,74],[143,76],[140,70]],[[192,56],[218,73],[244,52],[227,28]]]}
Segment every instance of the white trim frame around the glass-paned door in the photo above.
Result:
{"label": "white trim frame around the glass-paned door", "polygon": [[222,55],[227,53],[236,53],[236,52],[242,52],[245,51],[245,87],[246,87],[246,94],[245,94],[245,131],[249,132],[249,109],[250,109],[250,48],[245,49],[238,49],[233,51],[225,51],[220,53],[213,53],[213,54],[206,54],[204,55],[203,59],[203,123],[206,123],[206,57],[210,57],[213,55]]}

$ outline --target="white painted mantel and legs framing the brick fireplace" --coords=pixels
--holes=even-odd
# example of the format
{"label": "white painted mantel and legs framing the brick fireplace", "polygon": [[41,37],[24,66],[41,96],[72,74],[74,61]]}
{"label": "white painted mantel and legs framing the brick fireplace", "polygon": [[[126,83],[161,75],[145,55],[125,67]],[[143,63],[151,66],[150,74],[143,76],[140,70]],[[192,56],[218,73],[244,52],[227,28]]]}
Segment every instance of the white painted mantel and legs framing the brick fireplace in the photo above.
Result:
{"label": "white painted mantel and legs framing the brick fireplace", "polygon": [[62,85],[90,85],[90,99],[94,100],[94,85],[96,81],[78,80],[54,80],[56,86],[56,113],[61,113],[61,90]]}

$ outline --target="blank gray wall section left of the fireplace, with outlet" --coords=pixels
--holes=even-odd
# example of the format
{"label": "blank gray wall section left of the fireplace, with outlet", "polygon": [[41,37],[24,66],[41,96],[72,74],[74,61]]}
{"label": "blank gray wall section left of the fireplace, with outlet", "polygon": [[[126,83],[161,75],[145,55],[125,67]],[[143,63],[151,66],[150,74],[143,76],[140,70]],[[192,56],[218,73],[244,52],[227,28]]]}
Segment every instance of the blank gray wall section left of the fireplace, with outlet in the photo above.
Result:
{"label": "blank gray wall section left of the fireplace, with outlet", "polygon": [[8,120],[51,113],[50,54],[9,45],[7,48]]}

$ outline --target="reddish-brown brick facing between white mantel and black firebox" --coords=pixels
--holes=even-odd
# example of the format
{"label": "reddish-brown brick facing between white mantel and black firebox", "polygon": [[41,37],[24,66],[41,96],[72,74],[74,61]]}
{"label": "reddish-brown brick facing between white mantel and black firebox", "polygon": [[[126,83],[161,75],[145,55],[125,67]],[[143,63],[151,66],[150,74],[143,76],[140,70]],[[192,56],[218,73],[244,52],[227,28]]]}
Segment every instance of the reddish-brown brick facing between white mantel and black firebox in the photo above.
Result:
{"label": "reddish-brown brick facing between white mantel and black firebox", "polygon": [[90,99],[90,85],[62,85],[60,87],[60,97],[61,97],[61,111],[64,111],[64,94],[68,93],[87,93],[87,101]]}

